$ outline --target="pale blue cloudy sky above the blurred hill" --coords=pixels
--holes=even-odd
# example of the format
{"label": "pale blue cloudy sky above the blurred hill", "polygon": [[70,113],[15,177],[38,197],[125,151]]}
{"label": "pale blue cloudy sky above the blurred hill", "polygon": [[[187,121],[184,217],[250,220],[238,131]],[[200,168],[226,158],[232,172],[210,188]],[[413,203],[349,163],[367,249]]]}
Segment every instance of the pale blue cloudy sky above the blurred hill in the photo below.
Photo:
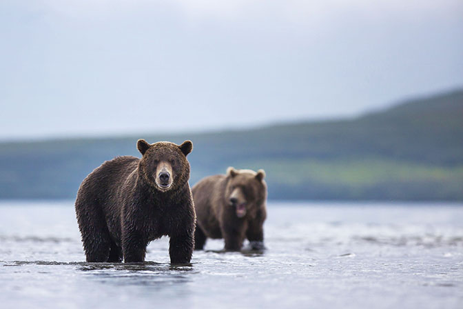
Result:
{"label": "pale blue cloudy sky above the blurred hill", "polygon": [[463,1],[2,0],[0,140],[355,117],[463,86]]}

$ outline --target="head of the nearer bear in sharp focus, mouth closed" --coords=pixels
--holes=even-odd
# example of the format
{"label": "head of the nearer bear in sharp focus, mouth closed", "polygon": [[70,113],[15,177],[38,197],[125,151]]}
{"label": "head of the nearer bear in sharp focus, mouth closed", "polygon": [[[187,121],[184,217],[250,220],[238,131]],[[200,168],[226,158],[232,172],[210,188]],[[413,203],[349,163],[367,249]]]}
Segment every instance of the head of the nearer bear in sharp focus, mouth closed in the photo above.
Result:
{"label": "head of the nearer bear in sharp focus, mouth closed", "polygon": [[187,155],[193,143],[184,141],[180,146],[168,141],[147,143],[139,139],[136,143],[143,157],[138,163],[138,172],[143,180],[161,192],[181,188],[189,179]]}

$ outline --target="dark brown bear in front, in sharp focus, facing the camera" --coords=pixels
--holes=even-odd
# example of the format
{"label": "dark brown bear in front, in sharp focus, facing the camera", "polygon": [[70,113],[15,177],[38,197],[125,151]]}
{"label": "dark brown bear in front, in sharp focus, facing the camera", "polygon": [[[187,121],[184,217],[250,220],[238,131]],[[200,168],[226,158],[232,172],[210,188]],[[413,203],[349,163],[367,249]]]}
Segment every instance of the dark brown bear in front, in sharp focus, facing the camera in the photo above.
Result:
{"label": "dark brown bear in front, in sharp focus, facing the camera", "polygon": [[76,215],[89,262],[141,262],[147,244],[169,236],[171,263],[189,263],[196,215],[189,188],[191,141],[140,139],[142,158],[105,161],[77,192]]}

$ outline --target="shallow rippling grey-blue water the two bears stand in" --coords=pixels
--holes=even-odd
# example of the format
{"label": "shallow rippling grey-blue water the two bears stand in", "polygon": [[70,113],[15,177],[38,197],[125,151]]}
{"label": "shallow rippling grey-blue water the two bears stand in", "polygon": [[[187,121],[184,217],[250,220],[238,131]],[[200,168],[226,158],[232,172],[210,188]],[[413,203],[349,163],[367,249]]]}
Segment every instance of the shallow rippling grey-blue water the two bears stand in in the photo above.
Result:
{"label": "shallow rippling grey-blue water the two bears stand in", "polygon": [[[265,252],[85,263],[72,201],[0,203],[1,308],[463,308],[461,204],[269,203]],[[138,306],[138,307],[137,307]]]}

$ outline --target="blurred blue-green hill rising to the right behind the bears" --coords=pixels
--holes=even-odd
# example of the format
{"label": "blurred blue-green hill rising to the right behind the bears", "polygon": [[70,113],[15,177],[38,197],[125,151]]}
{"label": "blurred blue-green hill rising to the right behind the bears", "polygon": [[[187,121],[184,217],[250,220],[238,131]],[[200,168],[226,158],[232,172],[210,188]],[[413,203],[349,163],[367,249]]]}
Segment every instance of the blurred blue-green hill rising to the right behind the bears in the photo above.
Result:
{"label": "blurred blue-green hill rising to the right behind the bears", "polygon": [[136,140],[191,139],[193,185],[227,166],[264,168],[270,199],[463,201],[463,90],[355,119],[201,134],[0,143],[0,198],[74,198],[103,161]]}

